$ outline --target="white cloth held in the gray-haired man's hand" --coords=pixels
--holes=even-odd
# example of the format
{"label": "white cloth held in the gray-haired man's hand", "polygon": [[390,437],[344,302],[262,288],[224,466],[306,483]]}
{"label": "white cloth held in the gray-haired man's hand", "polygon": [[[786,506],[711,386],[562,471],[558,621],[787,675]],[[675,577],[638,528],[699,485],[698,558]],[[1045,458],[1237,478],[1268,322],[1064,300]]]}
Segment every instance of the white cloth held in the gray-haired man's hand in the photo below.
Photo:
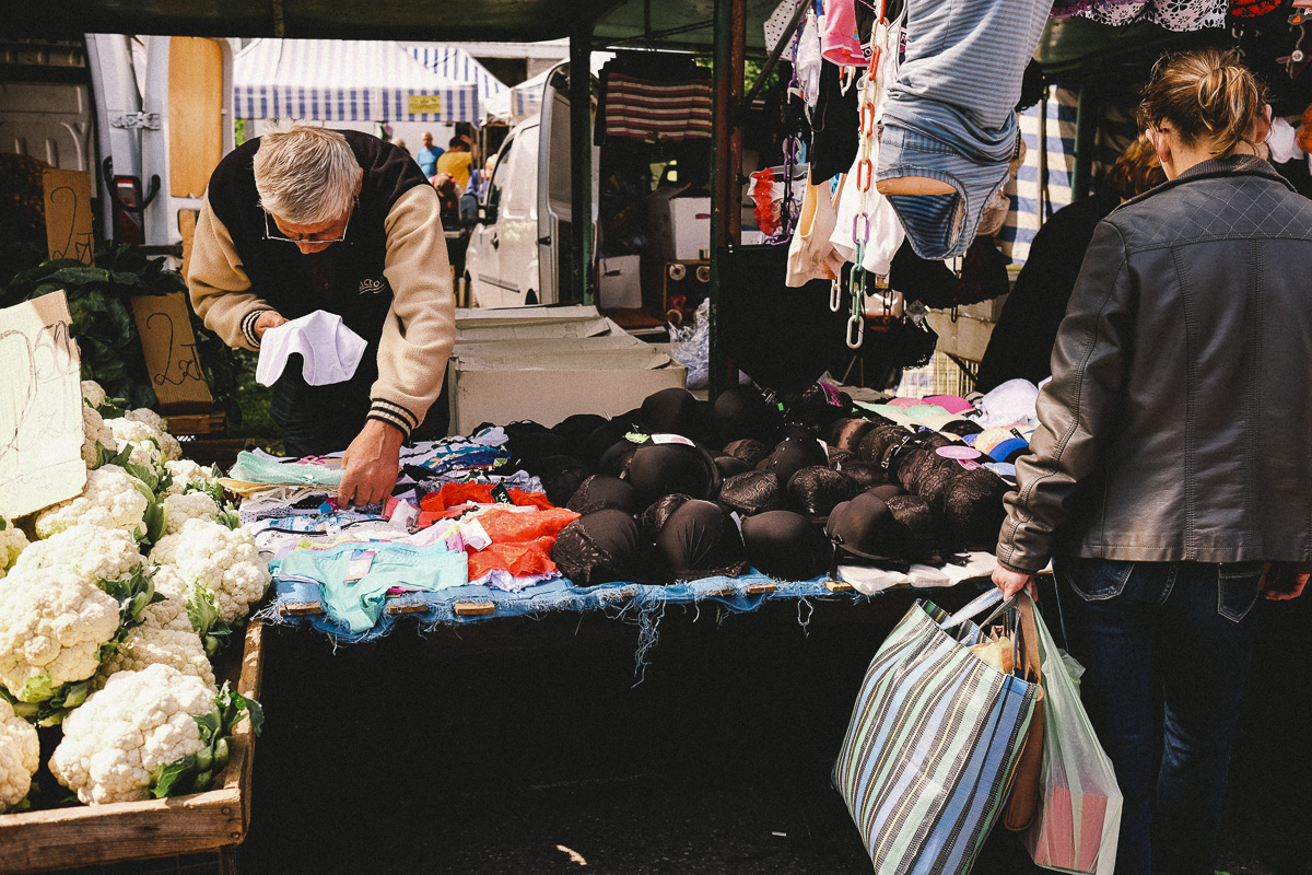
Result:
{"label": "white cloth held in the gray-haired man's hand", "polygon": [[342,324],[341,316],[316,310],[264,332],[255,378],[261,386],[273,386],[287,367],[287,358],[300,353],[304,361],[300,373],[307,383],[342,383],[356,374],[366,345],[363,337]]}

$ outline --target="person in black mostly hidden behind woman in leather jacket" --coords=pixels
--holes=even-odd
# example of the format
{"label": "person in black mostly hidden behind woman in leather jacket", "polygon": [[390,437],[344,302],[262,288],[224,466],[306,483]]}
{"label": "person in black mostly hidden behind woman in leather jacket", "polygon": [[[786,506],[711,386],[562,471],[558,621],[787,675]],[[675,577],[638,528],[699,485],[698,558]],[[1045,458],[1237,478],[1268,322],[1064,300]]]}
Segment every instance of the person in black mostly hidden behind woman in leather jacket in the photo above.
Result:
{"label": "person in black mostly hidden behind woman in leather jacket", "polygon": [[1057,325],[1094,228],[1120,203],[1165,181],[1152,140],[1140,134],[1099,180],[1093,197],[1061,207],[1043,223],[989,335],[977,391],[988,392],[1015,378],[1031,383],[1048,378]]}

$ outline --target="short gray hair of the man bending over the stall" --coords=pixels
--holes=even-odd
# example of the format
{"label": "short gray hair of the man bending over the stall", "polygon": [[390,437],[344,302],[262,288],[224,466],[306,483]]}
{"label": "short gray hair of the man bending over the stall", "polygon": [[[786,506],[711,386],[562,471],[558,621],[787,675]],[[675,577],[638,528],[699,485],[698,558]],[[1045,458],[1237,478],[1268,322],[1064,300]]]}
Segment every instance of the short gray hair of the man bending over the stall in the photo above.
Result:
{"label": "short gray hair of the man bending over the stall", "polygon": [[356,197],[359,163],[337,131],[282,121],[260,136],[255,188],[260,206],[293,224],[319,224],[346,213]]}

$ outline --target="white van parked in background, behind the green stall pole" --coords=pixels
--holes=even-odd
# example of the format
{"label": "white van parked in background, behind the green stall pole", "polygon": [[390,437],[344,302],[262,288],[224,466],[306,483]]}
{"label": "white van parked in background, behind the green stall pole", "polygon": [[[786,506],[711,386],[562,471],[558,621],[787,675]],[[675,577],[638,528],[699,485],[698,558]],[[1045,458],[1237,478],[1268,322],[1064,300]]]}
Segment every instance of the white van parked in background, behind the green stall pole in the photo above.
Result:
{"label": "white van parked in background, behind the green stall pole", "polygon": [[[573,201],[569,165],[569,64],[547,76],[542,112],[497,152],[464,256],[464,283],[479,307],[554,304],[568,298]],[[600,151],[592,151],[596,236]]]}

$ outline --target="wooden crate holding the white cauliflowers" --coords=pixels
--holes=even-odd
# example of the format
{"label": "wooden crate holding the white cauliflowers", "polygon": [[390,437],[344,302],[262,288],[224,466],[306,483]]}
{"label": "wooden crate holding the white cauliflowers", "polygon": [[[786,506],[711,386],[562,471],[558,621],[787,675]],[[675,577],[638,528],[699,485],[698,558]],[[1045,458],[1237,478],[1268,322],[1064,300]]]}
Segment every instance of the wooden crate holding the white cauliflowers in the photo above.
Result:
{"label": "wooden crate holding the white cauliflowers", "polygon": [[[222,683],[258,698],[264,626],[247,627],[245,648],[215,665]],[[0,875],[216,851],[240,845],[251,826],[251,722],[234,728],[223,786],[188,796],[0,815]],[[54,787],[62,791],[63,787]]]}

